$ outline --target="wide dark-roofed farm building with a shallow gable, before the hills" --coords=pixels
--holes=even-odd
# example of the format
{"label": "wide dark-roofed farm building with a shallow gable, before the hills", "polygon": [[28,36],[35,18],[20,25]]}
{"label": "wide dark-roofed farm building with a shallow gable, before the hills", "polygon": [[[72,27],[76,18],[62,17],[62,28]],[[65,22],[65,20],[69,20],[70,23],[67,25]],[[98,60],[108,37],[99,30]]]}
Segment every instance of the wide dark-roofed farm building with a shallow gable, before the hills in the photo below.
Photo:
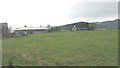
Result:
{"label": "wide dark-roofed farm building with a shallow gable, before the hills", "polygon": [[51,28],[51,31],[78,31],[78,30],[94,30],[94,27],[87,22],[77,22]]}

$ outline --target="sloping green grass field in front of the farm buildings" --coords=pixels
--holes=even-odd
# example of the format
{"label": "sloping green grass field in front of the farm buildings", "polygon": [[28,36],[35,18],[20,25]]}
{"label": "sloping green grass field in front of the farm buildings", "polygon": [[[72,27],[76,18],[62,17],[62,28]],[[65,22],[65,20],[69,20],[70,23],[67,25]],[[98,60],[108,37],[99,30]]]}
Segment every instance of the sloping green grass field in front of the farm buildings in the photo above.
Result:
{"label": "sloping green grass field in front of the farm buildings", "polygon": [[3,39],[3,65],[117,66],[118,31],[34,34]]}

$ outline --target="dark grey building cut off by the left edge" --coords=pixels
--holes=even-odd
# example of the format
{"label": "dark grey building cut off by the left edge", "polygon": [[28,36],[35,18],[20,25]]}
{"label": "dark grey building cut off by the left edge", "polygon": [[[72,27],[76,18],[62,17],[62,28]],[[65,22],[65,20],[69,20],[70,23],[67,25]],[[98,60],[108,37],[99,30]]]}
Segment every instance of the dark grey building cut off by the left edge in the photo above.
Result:
{"label": "dark grey building cut off by the left edge", "polygon": [[2,37],[8,36],[8,33],[9,33],[8,24],[0,23],[0,34],[2,34]]}

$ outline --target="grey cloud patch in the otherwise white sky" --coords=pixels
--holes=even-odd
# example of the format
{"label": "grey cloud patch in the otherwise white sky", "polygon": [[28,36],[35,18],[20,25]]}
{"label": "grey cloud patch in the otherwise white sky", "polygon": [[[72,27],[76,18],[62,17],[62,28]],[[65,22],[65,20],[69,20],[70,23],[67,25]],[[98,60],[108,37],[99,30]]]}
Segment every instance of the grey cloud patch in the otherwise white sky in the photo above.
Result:
{"label": "grey cloud patch in the otherwise white sky", "polygon": [[117,2],[79,2],[71,8],[69,16],[97,18],[117,15],[117,11]]}

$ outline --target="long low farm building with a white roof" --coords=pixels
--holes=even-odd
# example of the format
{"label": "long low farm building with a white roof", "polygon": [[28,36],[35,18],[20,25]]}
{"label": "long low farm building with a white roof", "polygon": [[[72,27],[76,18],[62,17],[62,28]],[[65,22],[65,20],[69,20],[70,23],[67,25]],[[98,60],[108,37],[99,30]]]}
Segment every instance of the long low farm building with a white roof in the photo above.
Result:
{"label": "long low farm building with a white roof", "polygon": [[48,28],[45,27],[22,27],[14,30],[16,34],[36,34],[48,32]]}

